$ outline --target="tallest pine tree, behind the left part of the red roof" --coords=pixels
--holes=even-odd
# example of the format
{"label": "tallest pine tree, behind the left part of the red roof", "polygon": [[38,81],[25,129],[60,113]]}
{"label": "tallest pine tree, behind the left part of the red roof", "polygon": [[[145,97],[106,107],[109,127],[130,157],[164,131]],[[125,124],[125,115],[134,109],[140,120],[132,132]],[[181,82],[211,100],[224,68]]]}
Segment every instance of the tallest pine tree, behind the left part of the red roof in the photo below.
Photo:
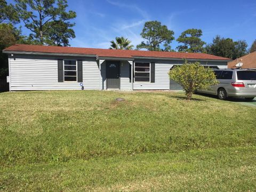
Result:
{"label": "tallest pine tree, behind the left part of the red roof", "polygon": [[[32,32],[30,37],[39,44],[54,44],[55,39],[49,42],[49,36],[54,30],[54,34],[60,35],[58,38],[66,44],[68,39],[73,37],[74,31],[69,30],[69,27],[74,26],[75,23],[68,21],[76,17],[76,12],[66,11],[67,0],[15,0],[15,2],[19,18]],[[56,33],[58,27],[65,31]]]}

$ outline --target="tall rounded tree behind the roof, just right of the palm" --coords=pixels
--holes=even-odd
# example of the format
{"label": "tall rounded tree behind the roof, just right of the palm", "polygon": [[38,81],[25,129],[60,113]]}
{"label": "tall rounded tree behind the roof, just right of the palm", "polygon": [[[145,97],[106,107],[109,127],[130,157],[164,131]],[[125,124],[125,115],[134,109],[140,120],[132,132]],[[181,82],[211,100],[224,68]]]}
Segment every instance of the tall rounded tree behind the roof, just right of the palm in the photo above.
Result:
{"label": "tall rounded tree behind the roof, just right of the palm", "polygon": [[[169,30],[167,26],[161,25],[159,21],[148,21],[145,23],[141,37],[145,38],[146,42],[141,42],[137,45],[137,49],[147,49],[149,51],[170,51],[170,43],[174,39],[174,32]],[[161,49],[161,46],[164,49]]]}

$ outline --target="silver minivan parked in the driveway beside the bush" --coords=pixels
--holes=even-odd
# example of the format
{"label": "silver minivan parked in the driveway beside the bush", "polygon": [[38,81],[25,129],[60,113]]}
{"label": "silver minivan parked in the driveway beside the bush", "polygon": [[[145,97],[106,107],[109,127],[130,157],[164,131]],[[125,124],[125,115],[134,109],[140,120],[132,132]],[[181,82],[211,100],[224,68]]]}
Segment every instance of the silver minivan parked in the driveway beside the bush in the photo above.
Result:
{"label": "silver minivan parked in the driveway beside the bush", "polygon": [[217,69],[214,70],[220,82],[208,90],[197,90],[199,93],[217,95],[219,99],[243,97],[253,100],[256,97],[256,69]]}

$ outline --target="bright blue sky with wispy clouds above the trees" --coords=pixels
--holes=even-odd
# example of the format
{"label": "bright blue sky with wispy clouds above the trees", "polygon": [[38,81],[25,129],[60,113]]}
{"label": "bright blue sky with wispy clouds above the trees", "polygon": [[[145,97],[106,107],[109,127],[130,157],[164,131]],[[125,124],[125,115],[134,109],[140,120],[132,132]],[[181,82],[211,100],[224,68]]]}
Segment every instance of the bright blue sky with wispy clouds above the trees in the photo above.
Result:
{"label": "bright blue sky with wispy clouds above the trees", "polygon": [[[207,43],[216,35],[244,39],[249,46],[256,39],[255,0],[68,0],[68,4],[77,13],[76,38],[70,41],[76,47],[108,48],[116,36],[137,45],[143,40],[143,24],[151,20],[161,21],[174,31],[175,38],[186,29],[198,28]],[[23,33],[29,31],[23,29]],[[178,43],[173,41],[171,46],[175,49]]]}

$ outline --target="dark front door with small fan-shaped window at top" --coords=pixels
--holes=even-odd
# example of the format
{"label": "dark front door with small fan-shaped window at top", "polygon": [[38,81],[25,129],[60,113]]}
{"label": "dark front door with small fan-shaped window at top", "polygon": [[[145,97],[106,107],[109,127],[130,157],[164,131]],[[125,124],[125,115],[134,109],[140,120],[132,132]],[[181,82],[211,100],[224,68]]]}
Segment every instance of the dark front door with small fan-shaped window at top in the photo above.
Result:
{"label": "dark front door with small fan-shaped window at top", "polygon": [[107,61],[107,89],[120,89],[120,62]]}

